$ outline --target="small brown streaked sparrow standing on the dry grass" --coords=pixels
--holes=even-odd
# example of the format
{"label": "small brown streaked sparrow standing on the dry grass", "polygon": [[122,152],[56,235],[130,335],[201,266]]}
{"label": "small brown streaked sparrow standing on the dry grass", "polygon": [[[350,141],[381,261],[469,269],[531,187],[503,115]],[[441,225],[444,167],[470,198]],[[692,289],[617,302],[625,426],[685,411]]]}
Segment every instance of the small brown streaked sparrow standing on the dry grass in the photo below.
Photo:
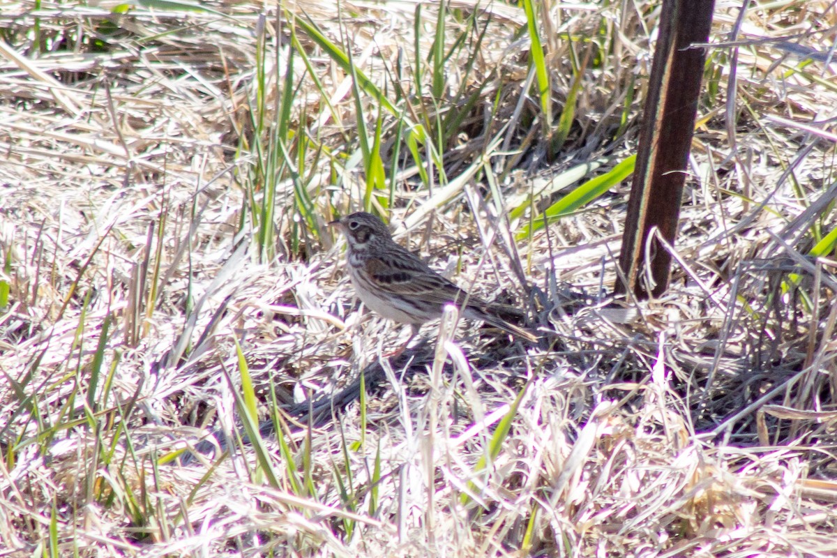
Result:
{"label": "small brown streaked sparrow standing on the dry grass", "polygon": [[378,315],[409,324],[413,335],[407,343],[420,325],[439,318],[448,303],[460,306],[465,318],[485,321],[526,340],[537,340],[529,331],[492,314],[491,305],[444,279],[396,243],[387,226],[372,213],[352,213],[329,224],[347,238],[346,269],[357,296]]}

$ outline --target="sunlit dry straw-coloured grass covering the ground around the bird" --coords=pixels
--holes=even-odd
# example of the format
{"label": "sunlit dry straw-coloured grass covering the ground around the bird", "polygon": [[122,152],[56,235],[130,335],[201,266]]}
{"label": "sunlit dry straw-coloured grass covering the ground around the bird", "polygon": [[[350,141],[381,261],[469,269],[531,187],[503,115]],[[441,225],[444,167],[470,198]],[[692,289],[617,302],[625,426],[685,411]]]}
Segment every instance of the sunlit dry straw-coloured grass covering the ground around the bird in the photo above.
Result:
{"label": "sunlit dry straw-coloured grass covering the ground around the bird", "polygon": [[[730,39],[740,3],[718,3],[713,42],[745,44],[710,53],[679,266],[619,324],[596,307],[626,185],[517,243],[530,213],[498,216],[634,149],[654,6],[543,17],[559,109],[584,79],[551,154],[521,9],[480,13],[433,100],[413,63],[436,8],[416,26],[413,3],[308,4],[3,5],[0,555],[835,555],[837,278],[815,248],[835,223],[834,6],[754,7]],[[450,4],[448,48],[474,7]],[[410,120],[461,116],[434,136],[444,166],[427,146],[428,177],[406,147],[393,166],[398,119],[291,34],[303,12]],[[253,171],[294,37],[320,83],[288,113],[296,182]],[[402,332],[358,311],[321,229],[362,203],[358,106],[370,130],[381,114],[401,242],[525,306],[540,346],[445,325],[382,357]],[[266,454],[231,435],[249,380],[280,430]],[[229,455],[179,461],[215,427]]]}

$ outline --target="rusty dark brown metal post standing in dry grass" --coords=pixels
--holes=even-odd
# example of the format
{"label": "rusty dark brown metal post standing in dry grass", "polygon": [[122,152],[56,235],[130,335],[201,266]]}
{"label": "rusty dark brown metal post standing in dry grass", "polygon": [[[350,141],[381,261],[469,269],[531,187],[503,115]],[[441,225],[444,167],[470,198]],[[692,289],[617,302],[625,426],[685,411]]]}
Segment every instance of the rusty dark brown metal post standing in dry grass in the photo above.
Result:
{"label": "rusty dark brown metal post standing in dry grass", "polygon": [[[630,289],[646,299],[668,288],[671,255],[656,241],[646,253],[646,243],[654,228],[668,243],[673,245],[675,241],[706,61],[705,49],[691,45],[709,40],[714,7],[714,0],[663,0],[619,253],[619,265],[628,284],[618,280],[617,293]],[[640,280],[646,265],[651,285]]]}

